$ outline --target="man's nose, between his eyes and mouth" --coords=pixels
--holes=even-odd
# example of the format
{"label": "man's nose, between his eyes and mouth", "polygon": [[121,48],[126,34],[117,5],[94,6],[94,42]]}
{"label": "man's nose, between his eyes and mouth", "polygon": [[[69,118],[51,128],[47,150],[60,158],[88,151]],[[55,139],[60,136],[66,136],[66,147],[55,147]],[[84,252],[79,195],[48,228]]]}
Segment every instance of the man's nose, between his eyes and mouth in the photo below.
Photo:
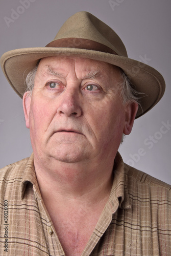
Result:
{"label": "man's nose, between his eyes and mouth", "polygon": [[82,110],[79,104],[79,92],[74,89],[66,89],[60,97],[60,104],[58,106],[59,115],[65,115],[67,117],[81,116]]}

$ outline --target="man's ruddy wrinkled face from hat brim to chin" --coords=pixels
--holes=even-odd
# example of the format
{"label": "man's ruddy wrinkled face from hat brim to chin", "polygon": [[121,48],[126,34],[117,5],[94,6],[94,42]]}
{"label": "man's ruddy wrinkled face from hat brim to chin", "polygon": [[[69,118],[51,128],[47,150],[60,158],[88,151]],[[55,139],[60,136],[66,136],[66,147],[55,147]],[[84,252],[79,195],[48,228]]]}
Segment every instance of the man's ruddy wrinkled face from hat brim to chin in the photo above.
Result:
{"label": "man's ruddy wrinkled face from hat brim to chin", "polygon": [[131,108],[118,91],[118,68],[78,57],[41,59],[23,99],[35,156],[67,163],[114,159]]}

